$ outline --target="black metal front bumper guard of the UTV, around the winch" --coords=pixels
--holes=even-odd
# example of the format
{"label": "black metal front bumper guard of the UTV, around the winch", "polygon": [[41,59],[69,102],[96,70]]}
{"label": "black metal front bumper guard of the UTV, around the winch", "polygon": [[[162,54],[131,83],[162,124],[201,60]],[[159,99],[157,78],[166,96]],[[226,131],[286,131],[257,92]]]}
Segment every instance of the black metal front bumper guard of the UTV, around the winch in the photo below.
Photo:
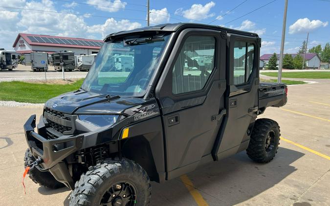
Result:
{"label": "black metal front bumper guard of the UTV, around the winch", "polygon": [[[57,181],[74,189],[74,181],[68,171],[64,159],[73,152],[82,148],[84,135],[48,140],[34,131],[36,115],[32,115],[24,124],[26,142],[32,155],[43,159],[40,171],[49,171]],[[61,149],[58,149],[61,145]]]}

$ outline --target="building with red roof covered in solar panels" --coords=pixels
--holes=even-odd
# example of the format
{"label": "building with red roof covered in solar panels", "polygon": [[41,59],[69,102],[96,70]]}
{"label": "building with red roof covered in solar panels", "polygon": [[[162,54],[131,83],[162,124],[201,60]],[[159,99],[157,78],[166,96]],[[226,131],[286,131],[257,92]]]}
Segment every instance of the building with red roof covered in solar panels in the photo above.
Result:
{"label": "building with red roof covered in solar panels", "polygon": [[96,54],[102,40],[19,33],[13,47],[17,53],[72,51],[74,55]]}

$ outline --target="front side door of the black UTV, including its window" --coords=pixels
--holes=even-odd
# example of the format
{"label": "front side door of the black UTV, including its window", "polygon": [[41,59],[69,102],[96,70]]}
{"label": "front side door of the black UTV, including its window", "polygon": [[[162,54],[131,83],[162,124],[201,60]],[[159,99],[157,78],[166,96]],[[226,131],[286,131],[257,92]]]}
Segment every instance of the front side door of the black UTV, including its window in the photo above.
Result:
{"label": "front side door of the black UTV, including its window", "polygon": [[220,31],[181,31],[155,93],[161,105],[167,179],[213,161],[225,85]]}

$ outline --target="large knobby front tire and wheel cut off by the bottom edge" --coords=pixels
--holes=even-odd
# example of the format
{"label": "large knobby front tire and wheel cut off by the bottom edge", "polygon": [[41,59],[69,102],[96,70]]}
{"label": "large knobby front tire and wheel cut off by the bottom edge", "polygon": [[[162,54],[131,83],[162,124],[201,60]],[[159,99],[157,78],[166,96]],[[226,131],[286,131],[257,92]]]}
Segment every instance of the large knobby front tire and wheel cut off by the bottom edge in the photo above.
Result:
{"label": "large knobby front tire and wheel cut off by the bottom edge", "polygon": [[105,160],[83,174],[71,193],[70,206],[147,206],[147,172],[131,160]]}

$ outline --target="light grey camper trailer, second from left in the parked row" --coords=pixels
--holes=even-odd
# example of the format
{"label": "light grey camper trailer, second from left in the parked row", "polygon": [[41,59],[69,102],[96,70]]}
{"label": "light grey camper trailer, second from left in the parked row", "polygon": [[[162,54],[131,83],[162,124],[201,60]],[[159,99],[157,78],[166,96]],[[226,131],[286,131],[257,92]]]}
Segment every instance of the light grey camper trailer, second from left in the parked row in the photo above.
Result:
{"label": "light grey camper trailer, second from left in the parked row", "polygon": [[45,52],[31,52],[24,54],[25,65],[31,66],[33,72],[37,70],[48,70],[48,54]]}

